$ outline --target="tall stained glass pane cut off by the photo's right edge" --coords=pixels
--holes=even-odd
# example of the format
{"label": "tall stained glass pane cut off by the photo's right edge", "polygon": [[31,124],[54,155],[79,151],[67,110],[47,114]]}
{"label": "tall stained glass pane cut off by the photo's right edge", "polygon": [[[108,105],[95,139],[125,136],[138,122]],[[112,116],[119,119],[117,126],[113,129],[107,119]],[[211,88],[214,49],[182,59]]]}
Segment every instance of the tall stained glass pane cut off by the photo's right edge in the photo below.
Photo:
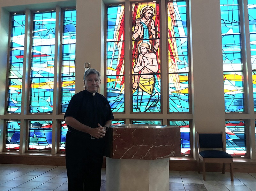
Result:
{"label": "tall stained glass pane cut off by the photo's right edge", "polygon": [[256,2],[248,0],[254,111],[256,112]]}

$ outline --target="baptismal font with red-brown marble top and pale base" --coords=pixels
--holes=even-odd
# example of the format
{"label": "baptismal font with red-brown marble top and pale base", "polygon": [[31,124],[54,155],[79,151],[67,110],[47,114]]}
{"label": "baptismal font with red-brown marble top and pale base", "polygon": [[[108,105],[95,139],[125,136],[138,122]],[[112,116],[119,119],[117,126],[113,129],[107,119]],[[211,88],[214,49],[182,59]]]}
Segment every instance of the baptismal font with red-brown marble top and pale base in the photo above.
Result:
{"label": "baptismal font with red-brown marble top and pale base", "polygon": [[169,158],[180,154],[180,128],[113,125],[106,153],[106,191],[169,191]]}

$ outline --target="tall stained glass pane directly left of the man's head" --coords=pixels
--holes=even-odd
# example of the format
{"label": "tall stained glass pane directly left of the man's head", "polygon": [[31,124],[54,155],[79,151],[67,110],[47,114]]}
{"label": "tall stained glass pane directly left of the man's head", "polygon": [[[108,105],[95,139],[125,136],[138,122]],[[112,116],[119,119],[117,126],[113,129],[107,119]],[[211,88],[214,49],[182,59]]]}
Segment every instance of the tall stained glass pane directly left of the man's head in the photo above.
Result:
{"label": "tall stained glass pane directly left of the man's head", "polygon": [[76,10],[65,10],[62,35],[61,112],[75,94]]}

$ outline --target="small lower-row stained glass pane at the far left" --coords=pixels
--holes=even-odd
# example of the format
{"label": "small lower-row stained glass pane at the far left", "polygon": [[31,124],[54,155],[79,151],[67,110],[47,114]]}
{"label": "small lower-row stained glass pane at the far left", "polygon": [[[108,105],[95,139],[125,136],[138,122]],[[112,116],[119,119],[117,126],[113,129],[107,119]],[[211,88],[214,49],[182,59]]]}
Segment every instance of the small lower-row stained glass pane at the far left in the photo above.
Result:
{"label": "small lower-row stained glass pane at the far left", "polygon": [[6,121],[5,149],[19,150],[19,137],[20,137],[20,121],[19,120]]}

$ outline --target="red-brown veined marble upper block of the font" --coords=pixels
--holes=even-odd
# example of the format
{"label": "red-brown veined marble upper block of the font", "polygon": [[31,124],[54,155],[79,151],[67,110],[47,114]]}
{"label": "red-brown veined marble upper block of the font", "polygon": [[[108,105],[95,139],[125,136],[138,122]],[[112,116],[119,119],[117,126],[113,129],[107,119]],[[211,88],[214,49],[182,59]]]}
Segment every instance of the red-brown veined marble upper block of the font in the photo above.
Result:
{"label": "red-brown veined marble upper block of the font", "polygon": [[155,160],[180,155],[180,128],[111,127],[106,156],[112,159]]}

